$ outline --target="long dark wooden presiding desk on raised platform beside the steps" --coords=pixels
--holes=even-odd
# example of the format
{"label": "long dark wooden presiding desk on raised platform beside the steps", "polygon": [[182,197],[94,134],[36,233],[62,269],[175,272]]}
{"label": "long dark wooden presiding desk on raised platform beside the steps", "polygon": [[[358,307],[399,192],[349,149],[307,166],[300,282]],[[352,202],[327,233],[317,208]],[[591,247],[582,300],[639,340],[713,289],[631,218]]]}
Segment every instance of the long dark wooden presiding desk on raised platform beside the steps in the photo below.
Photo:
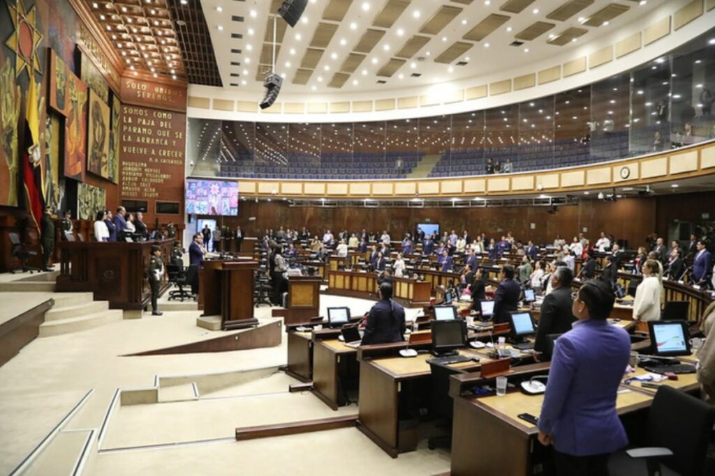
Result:
{"label": "long dark wooden presiding desk on raised platform beside the steps", "polygon": [[[56,290],[61,293],[92,292],[94,299],[109,301],[112,309],[141,312],[151,299],[147,278],[153,245],[162,248],[164,266],[171,256],[174,240],[139,243],[61,241],[60,274]],[[164,273],[159,295],[169,287]]]}

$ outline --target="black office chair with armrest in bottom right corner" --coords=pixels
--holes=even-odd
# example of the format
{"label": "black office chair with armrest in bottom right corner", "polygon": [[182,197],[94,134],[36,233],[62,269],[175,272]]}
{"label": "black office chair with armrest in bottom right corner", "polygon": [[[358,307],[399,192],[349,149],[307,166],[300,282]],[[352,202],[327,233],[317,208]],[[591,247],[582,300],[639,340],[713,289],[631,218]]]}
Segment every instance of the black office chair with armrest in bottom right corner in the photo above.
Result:
{"label": "black office chair with armrest in bottom right corner", "polygon": [[652,447],[616,452],[608,461],[611,476],[715,474],[706,457],[715,424],[715,407],[681,390],[662,385],[648,414]]}

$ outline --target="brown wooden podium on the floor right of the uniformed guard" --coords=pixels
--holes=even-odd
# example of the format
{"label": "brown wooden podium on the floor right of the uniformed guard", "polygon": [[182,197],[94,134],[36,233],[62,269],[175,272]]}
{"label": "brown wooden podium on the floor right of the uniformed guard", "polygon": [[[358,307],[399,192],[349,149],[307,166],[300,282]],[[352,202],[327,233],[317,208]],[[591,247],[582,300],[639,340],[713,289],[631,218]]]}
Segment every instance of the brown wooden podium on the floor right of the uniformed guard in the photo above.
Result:
{"label": "brown wooden podium on the floor right of the uniformed guard", "polygon": [[257,268],[255,261],[222,263],[221,327],[224,330],[257,323],[253,318],[253,277]]}

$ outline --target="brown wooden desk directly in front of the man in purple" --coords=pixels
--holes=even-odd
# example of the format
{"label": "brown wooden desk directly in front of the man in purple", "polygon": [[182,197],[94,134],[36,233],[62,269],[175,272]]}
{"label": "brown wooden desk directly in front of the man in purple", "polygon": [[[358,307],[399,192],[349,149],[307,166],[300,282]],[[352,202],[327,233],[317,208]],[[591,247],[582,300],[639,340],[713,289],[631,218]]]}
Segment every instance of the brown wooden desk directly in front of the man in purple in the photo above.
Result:
{"label": "brown wooden desk directly in front of the man in purple", "polygon": [[[626,415],[649,407],[652,401],[649,393],[621,386],[616,410]],[[536,426],[517,415],[539,415],[542,403],[543,395],[525,395],[519,390],[502,397],[455,398],[451,474],[533,475],[533,468],[550,455],[536,440]]]}

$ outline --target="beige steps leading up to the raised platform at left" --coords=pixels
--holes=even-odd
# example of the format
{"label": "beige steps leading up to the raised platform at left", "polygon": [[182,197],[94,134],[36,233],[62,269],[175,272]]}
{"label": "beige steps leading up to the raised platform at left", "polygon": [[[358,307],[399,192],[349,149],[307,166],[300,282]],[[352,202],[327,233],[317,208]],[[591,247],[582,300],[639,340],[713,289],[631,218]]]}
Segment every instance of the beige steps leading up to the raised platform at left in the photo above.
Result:
{"label": "beige steps leading up to the raised platform at left", "polygon": [[92,293],[55,293],[54,306],[45,313],[39,337],[50,337],[97,328],[122,320],[120,309],[109,309],[108,301],[92,300]]}

